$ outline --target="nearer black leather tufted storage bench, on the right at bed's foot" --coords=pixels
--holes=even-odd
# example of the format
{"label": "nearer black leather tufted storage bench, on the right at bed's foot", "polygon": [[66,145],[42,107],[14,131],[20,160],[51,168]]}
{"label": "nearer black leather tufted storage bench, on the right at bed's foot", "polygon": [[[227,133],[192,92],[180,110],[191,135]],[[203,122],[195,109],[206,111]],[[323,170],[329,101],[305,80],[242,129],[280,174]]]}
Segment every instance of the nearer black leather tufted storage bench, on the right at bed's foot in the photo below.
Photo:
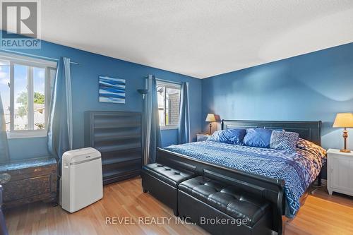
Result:
{"label": "nearer black leather tufted storage bench, on the right at bed's foot", "polygon": [[179,215],[211,234],[271,234],[270,203],[203,176],[179,183]]}

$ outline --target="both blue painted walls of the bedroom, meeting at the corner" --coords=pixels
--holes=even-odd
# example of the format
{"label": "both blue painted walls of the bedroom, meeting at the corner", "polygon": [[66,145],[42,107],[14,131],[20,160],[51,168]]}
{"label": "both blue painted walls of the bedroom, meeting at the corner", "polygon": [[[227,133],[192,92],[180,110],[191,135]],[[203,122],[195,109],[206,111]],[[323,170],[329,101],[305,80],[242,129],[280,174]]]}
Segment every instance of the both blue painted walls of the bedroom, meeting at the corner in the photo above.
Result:
{"label": "both blue painted walls of the bedroom, meeting at the corner", "polygon": [[[353,111],[353,43],[203,80],[49,42],[42,42],[42,49],[21,52],[67,56],[80,64],[71,66],[75,148],[83,146],[85,111],[142,111],[136,90],[144,87],[143,76],[147,74],[190,83],[193,140],[201,129],[208,131],[204,119],[213,112],[221,119],[322,120],[323,147],[340,148],[342,130],[331,128],[335,114]],[[126,79],[126,104],[98,102],[100,75]],[[162,145],[174,143],[177,130],[162,131]],[[46,138],[11,139],[9,145],[12,159],[47,155]],[[349,146],[353,148],[353,137]]]}

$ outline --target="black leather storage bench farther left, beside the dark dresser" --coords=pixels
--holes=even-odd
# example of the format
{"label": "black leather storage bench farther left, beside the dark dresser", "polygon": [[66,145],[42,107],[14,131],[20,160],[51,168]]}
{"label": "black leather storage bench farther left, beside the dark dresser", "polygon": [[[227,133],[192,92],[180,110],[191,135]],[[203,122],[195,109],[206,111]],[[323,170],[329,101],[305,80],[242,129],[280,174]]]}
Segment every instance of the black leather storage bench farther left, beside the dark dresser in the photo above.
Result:
{"label": "black leather storage bench farther left, beside the dark dresser", "polygon": [[148,164],[142,167],[141,178],[143,192],[150,192],[162,203],[173,209],[178,215],[178,190],[180,182],[191,179],[194,174],[179,171],[162,164]]}

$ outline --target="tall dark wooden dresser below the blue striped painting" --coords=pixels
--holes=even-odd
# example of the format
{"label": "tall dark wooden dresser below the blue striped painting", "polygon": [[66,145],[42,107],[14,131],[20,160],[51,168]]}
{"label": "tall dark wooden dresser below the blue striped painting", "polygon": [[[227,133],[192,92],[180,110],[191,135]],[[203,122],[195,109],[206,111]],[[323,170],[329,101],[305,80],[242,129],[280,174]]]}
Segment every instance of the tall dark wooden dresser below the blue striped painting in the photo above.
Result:
{"label": "tall dark wooden dresser below the blue striped painting", "polygon": [[85,113],[85,147],[102,153],[104,184],[140,175],[141,128],[138,112]]}

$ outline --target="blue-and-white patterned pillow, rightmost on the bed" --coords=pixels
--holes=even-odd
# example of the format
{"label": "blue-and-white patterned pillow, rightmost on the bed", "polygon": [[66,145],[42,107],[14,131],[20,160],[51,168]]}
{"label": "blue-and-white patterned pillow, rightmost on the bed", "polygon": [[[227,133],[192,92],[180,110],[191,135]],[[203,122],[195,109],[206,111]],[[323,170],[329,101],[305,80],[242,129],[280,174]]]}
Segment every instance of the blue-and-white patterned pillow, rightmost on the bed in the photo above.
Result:
{"label": "blue-and-white patterned pillow, rightmost on the bed", "polygon": [[299,134],[290,131],[273,131],[271,134],[270,148],[285,150],[289,153],[296,152]]}

